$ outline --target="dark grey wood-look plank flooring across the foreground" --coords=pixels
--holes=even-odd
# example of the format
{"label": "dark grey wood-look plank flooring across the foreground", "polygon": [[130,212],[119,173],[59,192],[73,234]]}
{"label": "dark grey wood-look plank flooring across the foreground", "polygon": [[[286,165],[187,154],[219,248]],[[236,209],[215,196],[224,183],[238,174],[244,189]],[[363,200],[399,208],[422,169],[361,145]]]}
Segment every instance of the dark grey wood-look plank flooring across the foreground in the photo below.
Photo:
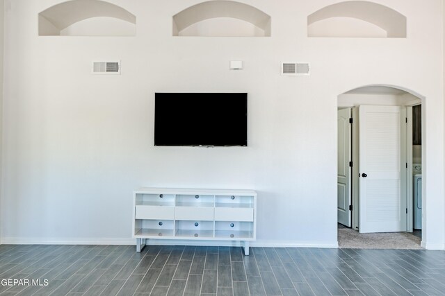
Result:
{"label": "dark grey wood-look plank flooring across the foreground", "polygon": [[[0,245],[0,295],[445,295],[445,251]],[[48,286],[4,285],[5,279]]]}

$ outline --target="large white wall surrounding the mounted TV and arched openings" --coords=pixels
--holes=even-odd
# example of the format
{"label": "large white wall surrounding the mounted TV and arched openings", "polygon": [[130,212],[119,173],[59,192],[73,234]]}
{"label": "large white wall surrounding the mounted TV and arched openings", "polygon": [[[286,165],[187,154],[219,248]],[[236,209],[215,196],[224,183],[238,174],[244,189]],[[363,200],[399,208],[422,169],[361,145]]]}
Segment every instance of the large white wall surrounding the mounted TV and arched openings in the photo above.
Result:
{"label": "large white wall surrounding the mounted TV and arched openings", "polygon": [[[442,1],[378,1],[407,16],[407,39],[308,38],[307,15],[333,0],[243,1],[272,37],[172,37],[197,0],[110,0],[136,14],[136,37],[38,37],[58,1],[6,1],[3,242],[131,241],[131,191],[167,186],[254,189],[257,245],[335,246],[337,96],[383,84],[426,98],[423,243],[444,247]],[[121,76],[90,74],[108,59]],[[312,76],[280,76],[293,60]],[[248,92],[249,146],[154,147],[154,92]]]}

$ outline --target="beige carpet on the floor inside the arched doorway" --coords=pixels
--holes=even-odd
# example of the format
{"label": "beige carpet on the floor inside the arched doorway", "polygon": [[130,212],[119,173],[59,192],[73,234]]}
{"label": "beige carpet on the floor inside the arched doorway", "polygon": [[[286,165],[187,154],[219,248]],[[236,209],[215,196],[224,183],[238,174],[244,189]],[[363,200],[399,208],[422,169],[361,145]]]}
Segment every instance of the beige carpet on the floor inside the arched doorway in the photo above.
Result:
{"label": "beige carpet on the floor inside the arched doorway", "polygon": [[419,250],[421,239],[407,232],[359,234],[350,228],[339,228],[339,247],[351,249]]}

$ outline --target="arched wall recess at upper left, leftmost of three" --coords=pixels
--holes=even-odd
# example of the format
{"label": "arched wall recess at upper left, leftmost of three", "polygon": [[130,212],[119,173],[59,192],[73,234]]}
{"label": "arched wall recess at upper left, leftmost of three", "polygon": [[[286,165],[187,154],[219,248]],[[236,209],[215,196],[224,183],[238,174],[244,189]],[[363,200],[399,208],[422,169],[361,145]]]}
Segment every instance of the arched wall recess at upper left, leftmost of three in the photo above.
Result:
{"label": "arched wall recess at upper left, leftmost of three", "polygon": [[72,0],[39,13],[40,36],[134,36],[136,16],[100,0]]}

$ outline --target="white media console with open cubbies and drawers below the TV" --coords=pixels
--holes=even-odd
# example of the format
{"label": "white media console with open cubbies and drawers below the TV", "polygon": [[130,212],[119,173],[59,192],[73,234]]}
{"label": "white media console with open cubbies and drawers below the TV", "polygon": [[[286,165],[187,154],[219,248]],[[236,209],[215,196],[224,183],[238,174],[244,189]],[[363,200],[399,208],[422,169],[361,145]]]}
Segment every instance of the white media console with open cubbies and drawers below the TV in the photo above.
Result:
{"label": "white media console with open cubbies and drawers below the TV", "polygon": [[133,191],[136,251],[146,240],[249,241],[256,239],[257,193],[251,190],[161,189]]}

